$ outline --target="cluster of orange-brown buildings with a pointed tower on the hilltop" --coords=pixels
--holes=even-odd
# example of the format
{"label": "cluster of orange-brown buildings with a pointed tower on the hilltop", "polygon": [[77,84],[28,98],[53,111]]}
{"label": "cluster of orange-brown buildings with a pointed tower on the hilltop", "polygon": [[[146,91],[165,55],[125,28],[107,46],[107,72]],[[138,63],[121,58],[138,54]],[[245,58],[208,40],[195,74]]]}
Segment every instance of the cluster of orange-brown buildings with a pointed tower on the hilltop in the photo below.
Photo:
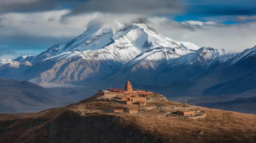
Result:
{"label": "cluster of orange-brown buildings with a pointed tower on the hilltop", "polygon": [[[205,117],[204,111],[195,111],[193,108],[185,105],[177,106],[177,103],[168,101],[163,95],[153,93],[152,91],[142,91],[138,89],[132,89],[132,85],[128,80],[124,86],[124,90],[118,88],[110,88],[108,90],[99,90],[97,93],[98,101],[109,101],[120,105],[119,108],[115,108],[113,113],[138,113],[145,110],[166,110],[172,112],[166,112],[166,116],[173,116],[181,119],[198,119]],[[138,105],[138,106],[130,106]],[[126,106],[126,107],[124,107]],[[116,107],[116,106],[115,106]],[[129,110],[128,110],[129,109]],[[176,109],[176,112],[173,110]],[[126,111],[125,111],[126,110]],[[127,111],[128,110],[128,111]],[[106,111],[105,111],[106,112]]]}

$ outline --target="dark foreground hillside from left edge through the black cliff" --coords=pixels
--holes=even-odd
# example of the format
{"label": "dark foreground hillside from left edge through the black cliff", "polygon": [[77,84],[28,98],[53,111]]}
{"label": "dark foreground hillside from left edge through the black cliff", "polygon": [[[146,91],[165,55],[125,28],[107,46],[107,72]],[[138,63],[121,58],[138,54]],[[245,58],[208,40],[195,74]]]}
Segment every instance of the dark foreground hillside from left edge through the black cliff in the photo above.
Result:
{"label": "dark foreground hillside from left edge through the black cliff", "polygon": [[65,111],[55,119],[26,118],[0,122],[0,142],[157,143],[161,140],[123,124],[115,115],[80,116]]}

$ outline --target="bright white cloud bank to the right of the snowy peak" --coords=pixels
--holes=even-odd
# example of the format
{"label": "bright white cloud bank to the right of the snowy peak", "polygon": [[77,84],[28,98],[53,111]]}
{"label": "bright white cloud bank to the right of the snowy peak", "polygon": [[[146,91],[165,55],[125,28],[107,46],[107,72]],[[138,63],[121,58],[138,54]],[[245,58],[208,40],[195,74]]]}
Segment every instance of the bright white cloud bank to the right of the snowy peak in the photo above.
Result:
{"label": "bright white cloud bank to the right of the snowy peak", "polygon": [[215,22],[175,22],[165,17],[148,20],[150,26],[163,36],[176,41],[189,41],[199,47],[242,52],[256,45],[256,22],[225,25]]}

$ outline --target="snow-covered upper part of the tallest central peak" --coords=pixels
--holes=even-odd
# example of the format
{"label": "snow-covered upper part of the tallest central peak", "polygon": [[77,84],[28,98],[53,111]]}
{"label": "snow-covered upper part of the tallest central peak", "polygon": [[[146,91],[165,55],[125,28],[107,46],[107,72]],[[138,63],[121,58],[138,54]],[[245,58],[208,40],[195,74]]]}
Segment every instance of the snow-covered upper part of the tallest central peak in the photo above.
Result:
{"label": "snow-covered upper part of the tallest central peak", "polygon": [[64,58],[80,56],[87,60],[113,60],[124,64],[141,52],[163,47],[174,49],[181,47],[181,44],[158,35],[142,20],[125,24],[115,22],[114,26],[98,24],[64,45],[53,45],[32,59],[31,63],[49,59],[57,62]]}

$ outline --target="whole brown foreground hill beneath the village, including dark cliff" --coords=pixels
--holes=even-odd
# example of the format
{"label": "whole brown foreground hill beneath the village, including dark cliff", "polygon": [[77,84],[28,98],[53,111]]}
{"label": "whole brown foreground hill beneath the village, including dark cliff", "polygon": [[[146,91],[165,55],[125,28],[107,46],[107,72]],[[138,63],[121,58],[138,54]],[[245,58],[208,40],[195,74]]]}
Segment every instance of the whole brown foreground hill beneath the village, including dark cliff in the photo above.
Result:
{"label": "whole brown foreground hill beneath the village, including dark cliff", "polygon": [[[99,98],[99,95],[97,95]],[[146,110],[92,97],[62,108],[38,113],[0,114],[1,143],[255,143],[256,115],[198,106],[202,119],[166,116],[176,109]],[[153,105],[180,106],[180,102],[154,100]],[[147,105],[147,106],[150,106]],[[116,108],[125,113],[114,114]],[[129,114],[129,109],[138,109]]]}

